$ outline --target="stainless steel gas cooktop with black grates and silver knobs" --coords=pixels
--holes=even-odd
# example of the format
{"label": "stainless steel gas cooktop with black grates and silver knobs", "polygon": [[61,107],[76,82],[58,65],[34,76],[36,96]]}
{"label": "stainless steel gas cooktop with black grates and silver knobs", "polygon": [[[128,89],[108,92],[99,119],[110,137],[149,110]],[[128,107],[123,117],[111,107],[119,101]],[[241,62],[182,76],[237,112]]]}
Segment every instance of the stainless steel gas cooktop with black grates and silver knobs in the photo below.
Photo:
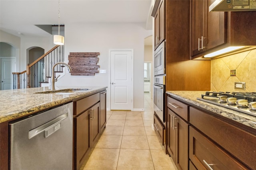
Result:
{"label": "stainless steel gas cooktop with black grates and silver knobs", "polygon": [[256,116],[256,92],[206,92],[197,99]]}

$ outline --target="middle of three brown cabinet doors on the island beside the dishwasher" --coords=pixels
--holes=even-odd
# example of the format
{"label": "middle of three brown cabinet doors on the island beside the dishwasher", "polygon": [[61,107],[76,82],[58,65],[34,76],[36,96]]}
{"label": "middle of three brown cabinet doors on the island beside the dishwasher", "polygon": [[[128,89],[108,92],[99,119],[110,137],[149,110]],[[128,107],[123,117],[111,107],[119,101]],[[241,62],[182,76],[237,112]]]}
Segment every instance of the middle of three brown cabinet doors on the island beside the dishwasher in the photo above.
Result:
{"label": "middle of three brown cabinet doors on the island beside the dishwasher", "polygon": [[99,125],[99,118],[100,118],[100,102],[98,102],[96,105],[94,105],[91,108],[91,112],[92,112],[92,124],[91,124],[91,128],[92,128],[92,146],[94,145],[94,143],[97,141],[98,137],[100,136],[100,125]]}

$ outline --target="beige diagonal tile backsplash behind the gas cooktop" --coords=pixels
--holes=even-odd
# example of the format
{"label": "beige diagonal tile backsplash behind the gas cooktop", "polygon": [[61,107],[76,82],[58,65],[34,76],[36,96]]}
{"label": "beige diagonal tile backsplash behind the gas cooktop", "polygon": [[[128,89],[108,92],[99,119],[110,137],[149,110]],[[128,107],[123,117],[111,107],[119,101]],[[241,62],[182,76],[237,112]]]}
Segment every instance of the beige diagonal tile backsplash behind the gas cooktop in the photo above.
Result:
{"label": "beige diagonal tile backsplash behind the gas cooktop", "polygon": [[[212,60],[211,91],[256,92],[256,49]],[[236,70],[236,76],[230,76]],[[245,82],[246,89],[234,88],[234,82]]]}

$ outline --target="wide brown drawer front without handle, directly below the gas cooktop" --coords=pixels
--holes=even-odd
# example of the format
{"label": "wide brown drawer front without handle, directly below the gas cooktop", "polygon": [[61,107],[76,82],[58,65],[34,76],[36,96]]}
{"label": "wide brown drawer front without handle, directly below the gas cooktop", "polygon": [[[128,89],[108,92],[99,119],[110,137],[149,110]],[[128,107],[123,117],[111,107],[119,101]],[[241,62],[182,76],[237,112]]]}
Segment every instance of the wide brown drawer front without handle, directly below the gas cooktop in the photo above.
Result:
{"label": "wide brown drawer front without handle, directly below the gas cooktop", "polygon": [[190,123],[244,164],[256,169],[255,135],[193,107],[190,107]]}

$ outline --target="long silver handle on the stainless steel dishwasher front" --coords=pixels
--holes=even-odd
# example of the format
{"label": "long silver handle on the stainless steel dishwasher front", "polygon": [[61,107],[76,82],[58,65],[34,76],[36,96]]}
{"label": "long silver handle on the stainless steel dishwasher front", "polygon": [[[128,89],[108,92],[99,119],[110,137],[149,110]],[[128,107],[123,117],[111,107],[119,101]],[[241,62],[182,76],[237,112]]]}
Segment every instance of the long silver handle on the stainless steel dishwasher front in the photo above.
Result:
{"label": "long silver handle on the stainless steel dishwasher front", "polygon": [[31,129],[30,131],[28,131],[28,139],[35,137],[43,131],[45,138],[52,135],[52,133],[58,131],[61,128],[61,121],[66,119],[67,117],[68,112],[60,115],[59,117],[56,117],[55,119],[52,119],[51,121],[48,121],[47,123],[44,123],[43,125]]}

